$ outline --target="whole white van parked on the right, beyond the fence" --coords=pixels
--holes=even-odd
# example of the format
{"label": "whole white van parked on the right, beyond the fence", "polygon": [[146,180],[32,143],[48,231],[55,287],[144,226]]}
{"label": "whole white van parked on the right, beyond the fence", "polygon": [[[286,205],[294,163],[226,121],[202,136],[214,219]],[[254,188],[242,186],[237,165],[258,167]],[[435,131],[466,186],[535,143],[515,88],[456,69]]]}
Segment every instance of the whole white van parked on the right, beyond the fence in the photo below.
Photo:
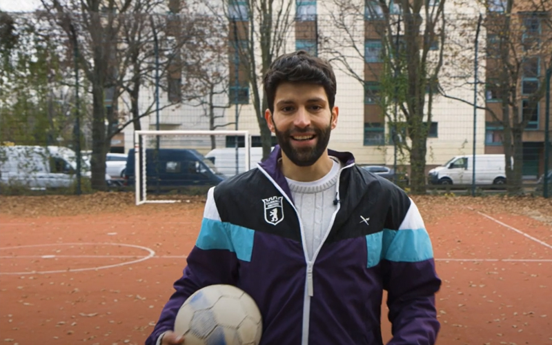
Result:
{"label": "whole white van parked on the right, beyond the fence", "polygon": [[[504,155],[475,155],[475,184],[506,184]],[[472,184],[473,155],[456,156],[429,170],[430,184]]]}

